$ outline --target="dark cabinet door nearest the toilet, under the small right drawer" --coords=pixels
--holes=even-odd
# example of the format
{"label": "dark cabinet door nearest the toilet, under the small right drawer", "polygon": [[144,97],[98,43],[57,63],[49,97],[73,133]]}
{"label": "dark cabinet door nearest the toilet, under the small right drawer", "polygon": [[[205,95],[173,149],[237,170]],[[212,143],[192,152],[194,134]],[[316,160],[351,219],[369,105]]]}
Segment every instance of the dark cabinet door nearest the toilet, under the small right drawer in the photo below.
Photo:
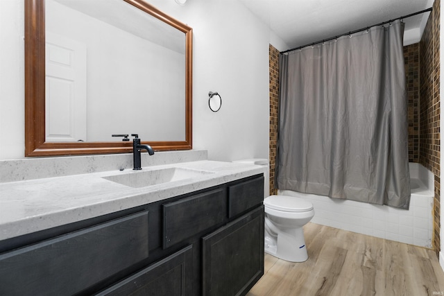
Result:
{"label": "dark cabinet door nearest the toilet, under the small right drawer", "polygon": [[264,275],[264,206],[203,238],[203,295],[245,295]]}

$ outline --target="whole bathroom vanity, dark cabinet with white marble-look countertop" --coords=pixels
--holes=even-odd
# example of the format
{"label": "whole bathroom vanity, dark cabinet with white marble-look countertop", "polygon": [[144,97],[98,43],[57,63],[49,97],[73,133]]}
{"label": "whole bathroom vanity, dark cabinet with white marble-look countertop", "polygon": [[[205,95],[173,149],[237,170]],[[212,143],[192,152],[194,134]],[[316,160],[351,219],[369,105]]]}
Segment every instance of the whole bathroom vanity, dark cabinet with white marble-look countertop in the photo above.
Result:
{"label": "whole bathroom vanity, dark cabinet with white marble-look countertop", "polygon": [[[37,214],[0,218],[0,294],[245,295],[264,273],[262,168],[203,161],[144,170],[171,167],[205,173],[148,186],[110,180],[137,174],[128,171],[0,184],[25,207],[58,196]],[[8,198],[0,206],[6,214]]]}

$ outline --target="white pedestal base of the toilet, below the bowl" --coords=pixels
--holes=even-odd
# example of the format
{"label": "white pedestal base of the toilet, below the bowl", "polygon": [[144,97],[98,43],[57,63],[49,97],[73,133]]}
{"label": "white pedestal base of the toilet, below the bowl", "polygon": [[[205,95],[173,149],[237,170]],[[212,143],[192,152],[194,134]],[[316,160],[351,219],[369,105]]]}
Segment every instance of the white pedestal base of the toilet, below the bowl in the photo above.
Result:
{"label": "white pedestal base of the toilet, below the bowl", "polygon": [[264,251],[285,261],[307,261],[307,246],[302,227],[280,232],[277,240],[266,233]]}

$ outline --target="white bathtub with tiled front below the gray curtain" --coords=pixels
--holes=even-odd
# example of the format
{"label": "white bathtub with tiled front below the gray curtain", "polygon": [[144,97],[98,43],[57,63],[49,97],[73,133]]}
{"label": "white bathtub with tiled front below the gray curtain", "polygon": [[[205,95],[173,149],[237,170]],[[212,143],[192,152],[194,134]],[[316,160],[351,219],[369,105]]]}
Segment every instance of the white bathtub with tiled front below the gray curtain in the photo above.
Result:
{"label": "white bathtub with tiled front below the gray curtain", "polygon": [[408,211],[289,190],[279,190],[278,194],[309,200],[315,213],[312,223],[430,248],[434,175],[420,164],[412,163],[410,175],[411,199]]}

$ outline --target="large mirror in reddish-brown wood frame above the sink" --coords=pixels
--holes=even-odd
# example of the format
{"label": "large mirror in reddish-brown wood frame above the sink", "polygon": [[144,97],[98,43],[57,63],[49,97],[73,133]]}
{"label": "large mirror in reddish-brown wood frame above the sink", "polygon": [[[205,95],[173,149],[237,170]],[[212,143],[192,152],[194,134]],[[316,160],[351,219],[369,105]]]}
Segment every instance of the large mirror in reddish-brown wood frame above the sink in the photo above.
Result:
{"label": "large mirror in reddish-brown wood frame above the sink", "polygon": [[[91,155],[91,154],[108,154],[108,153],[130,153],[133,148],[133,143],[131,141],[121,141],[119,138],[111,138],[111,134],[132,134],[136,133],[139,134],[140,139],[142,139],[142,143],[146,143],[152,146],[154,150],[162,151],[162,150],[189,150],[192,148],[192,29],[187,26],[186,24],[182,24],[180,21],[173,19],[169,15],[166,15],[164,12],[161,12],[160,10],[157,10],[157,8],[151,6],[149,3],[146,3],[144,0],[114,0],[114,2],[121,2],[124,3],[126,8],[130,10],[136,10],[137,14],[140,17],[141,15],[146,18],[155,18],[156,21],[160,21],[162,24],[167,24],[170,28],[167,28],[167,31],[171,31],[171,28],[173,28],[173,31],[178,31],[180,34],[183,34],[183,42],[185,42],[180,47],[182,48],[182,56],[183,56],[183,62],[171,62],[169,61],[170,58],[155,58],[155,60],[168,60],[167,64],[183,64],[183,68],[180,71],[175,71],[175,73],[180,73],[177,82],[169,81],[169,82],[163,82],[165,81],[162,76],[157,77],[158,75],[158,69],[155,70],[155,73],[149,73],[146,74],[148,76],[142,77],[142,81],[134,81],[133,78],[129,78],[124,83],[125,85],[131,85],[131,92],[128,92],[128,89],[125,90],[115,90],[114,85],[115,83],[112,82],[112,85],[109,85],[109,87],[103,87],[101,85],[101,89],[108,90],[108,93],[103,92],[103,95],[99,96],[97,95],[97,92],[94,94],[94,92],[91,91],[92,82],[87,82],[86,85],[87,93],[87,107],[84,107],[84,109],[87,110],[87,112],[90,112],[90,110],[96,110],[95,112],[95,118],[92,118],[91,114],[84,115],[83,117],[80,116],[80,118],[83,118],[82,121],[85,122],[95,122],[100,123],[98,125],[101,125],[105,131],[103,130],[95,130],[95,134],[93,134],[93,128],[85,128],[85,132],[83,132],[83,136],[75,136],[75,137],[60,137],[60,139],[57,139],[57,137],[49,137],[48,136],[48,120],[53,120],[51,124],[57,128],[62,128],[65,125],[65,128],[67,130],[72,130],[71,122],[61,122],[62,119],[65,117],[73,117],[78,118],[79,116],[76,116],[76,112],[73,112],[72,110],[69,110],[69,108],[66,108],[68,105],[71,106],[71,103],[64,103],[69,102],[67,100],[62,99],[59,100],[58,103],[46,103],[48,102],[48,92],[51,92],[51,94],[56,93],[58,87],[51,88],[51,85],[48,86],[48,78],[46,73],[47,66],[47,50],[48,46],[46,46],[46,35],[49,35],[49,33],[46,33],[46,24],[49,24],[49,20],[45,19],[45,6],[49,6],[49,1],[55,1],[58,2],[57,5],[63,4],[62,2],[66,0],[25,0],[25,156],[31,157],[31,156],[56,156],[56,155]],[[88,0],[84,1],[91,3],[94,0]],[[69,1],[66,1],[69,2]],[[73,1],[71,1],[73,2]],[[77,2],[77,1],[75,1]],[[101,1],[103,2],[103,1]],[[108,5],[108,1],[107,2]],[[126,9],[125,8],[125,9]],[[91,11],[91,9],[88,8],[88,11]],[[99,11],[101,11],[99,9]],[[115,10],[115,11],[121,12],[121,9]],[[103,15],[103,11],[101,11]],[[76,12],[77,13],[77,12]],[[58,15],[58,12],[55,14]],[[60,16],[60,15],[59,15]],[[62,16],[63,17],[63,16]],[[137,17],[126,17],[128,19],[128,22],[134,24],[135,21],[133,19],[136,19]],[[103,21],[103,20],[101,20]],[[84,24],[85,21],[79,22],[79,24]],[[123,23],[126,23],[124,21]],[[67,21],[67,24],[70,24],[70,21]],[[73,23],[71,23],[73,24]],[[108,24],[107,24],[108,25]],[[136,25],[139,26],[139,25]],[[71,27],[76,27],[72,26]],[[144,27],[145,28],[145,27]],[[139,32],[143,31],[153,31],[153,29],[148,28],[148,30],[144,30],[144,28],[138,28]],[[88,29],[89,30],[89,29]],[[164,30],[164,29],[162,29]],[[167,31],[162,31],[162,35],[168,36],[169,33]],[[165,33],[167,32],[167,33]],[[52,34],[52,33],[51,33]],[[110,35],[108,33],[108,35]],[[112,33],[112,36],[118,36],[119,34]],[[96,35],[97,36],[97,35]],[[65,37],[62,37],[65,38]],[[117,37],[116,37],[117,38]],[[140,36],[137,38],[140,39]],[[90,38],[94,39],[94,38]],[[103,35],[97,36],[95,39],[103,40]],[[125,44],[125,42],[119,41],[121,44]],[[132,42],[130,44],[133,44]],[[157,46],[157,45],[155,45]],[[163,45],[162,45],[163,46]],[[108,46],[108,48],[113,48],[115,46]],[[142,46],[133,46],[130,47],[130,45],[126,46],[126,50],[128,49],[134,49],[134,48],[144,48],[144,45]],[[158,49],[157,52],[163,51],[162,49]],[[166,51],[169,51],[166,50]],[[133,51],[130,50],[131,54],[133,55]],[[176,53],[175,53],[176,54]],[[57,55],[57,54],[56,54]],[[65,56],[60,54],[59,56]],[[91,59],[92,54],[88,51],[88,59]],[[45,58],[46,57],[46,58]],[[112,58],[111,60],[116,60],[115,58]],[[135,58],[134,60],[137,60],[139,64],[142,64],[141,60],[145,60],[144,58]],[[153,69],[153,62],[152,60],[148,62],[149,68]],[[89,64],[88,66],[89,67]],[[160,64],[160,69],[166,69],[165,63]],[[94,68],[94,67],[91,67]],[[95,68],[96,69],[96,68]],[[168,68],[169,69],[169,68]],[[107,72],[110,72],[109,69]],[[117,73],[126,73],[128,76],[128,70],[123,71],[119,69],[119,71],[116,71],[113,75],[109,75],[110,79],[115,77],[123,77],[118,76]],[[140,71],[136,71],[137,73],[132,74],[132,77],[139,77],[144,76],[145,74]],[[96,73],[95,71],[89,70],[87,72],[87,76],[94,76]],[[175,75],[172,75],[174,77],[178,76],[177,73]],[[99,75],[99,78],[96,78],[96,80],[105,80],[106,73],[102,73]],[[171,74],[171,72],[170,72]],[[51,74],[52,75],[52,74]],[[123,74],[122,74],[123,75]],[[168,73],[164,74],[171,78]],[[156,80],[157,79],[157,80]],[[119,78],[121,80],[121,78]],[[139,86],[146,85],[148,82],[152,82],[152,85],[159,85],[161,89],[157,90],[155,94],[144,94],[143,98],[146,99],[148,97],[154,97],[155,100],[151,103],[143,102],[144,105],[139,107],[138,105],[126,105],[130,101],[129,98],[135,97],[135,94],[133,94],[133,90]],[[112,80],[111,80],[112,81]],[[159,83],[159,81],[162,81],[162,83]],[[77,83],[78,84],[78,83]],[[171,91],[171,85],[182,85],[182,89],[175,89],[174,92]],[[149,87],[151,89],[151,87]],[[55,90],[54,90],[55,89]],[[69,87],[68,87],[69,89]],[[143,89],[143,88],[142,88]],[[60,89],[59,89],[60,90]],[[59,92],[60,94],[64,93],[64,90]],[[66,92],[65,92],[66,93]],[[101,94],[102,92],[99,92]],[[121,95],[121,99],[119,99],[119,96],[117,98],[110,98],[113,94],[123,94]],[[130,93],[130,94],[129,94]],[[176,95],[174,95],[176,94]],[[108,101],[105,101],[105,103],[95,103],[95,109],[94,104],[88,101],[89,96],[91,98],[97,98],[101,97],[102,99],[105,98]],[[157,97],[159,96],[159,97]],[[160,110],[154,110],[155,105],[165,105],[168,100],[173,100],[171,97],[177,97],[177,102],[174,103],[175,105],[168,105],[167,107],[160,108]],[[65,100],[65,101],[63,101]],[[160,101],[164,100],[164,101]],[[112,111],[108,110],[108,105],[110,105],[110,102],[112,101],[119,101],[121,105],[119,107],[116,107],[116,110],[119,110],[119,113],[114,113]],[[140,102],[140,101],[139,101]],[[161,102],[161,103],[160,103]],[[84,105],[85,105],[84,104]],[[55,108],[54,106],[59,105],[62,106],[62,111],[57,110],[53,114],[58,114],[58,116],[50,115],[49,113],[49,105],[51,105],[51,108]],[[180,105],[181,107],[177,107],[176,105]],[[63,108],[65,106],[65,108]],[[99,106],[99,107],[97,107]],[[161,106],[162,107],[162,106]],[[151,110],[153,108],[153,111],[151,112],[151,115],[148,114],[148,110]],[[179,111],[180,114],[176,115],[176,113],[169,114],[165,111],[165,108],[167,110],[181,110]],[[74,108],[75,109],[75,108]],[[51,109],[52,110],[52,109]],[[66,111],[68,115],[64,115],[63,110]],[[100,113],[97,115],[99,110]],[[142,113],[137,113],[137,110],[142,110]],[[87,113],[85,112],[85,114]],[[109,112],[109,113],[107,113]],[[178,112],[176,110],[176,112]],[[62,114],[62,115],[60,115]],[[73,115],[74,114],[74,115]],[[112,114],[112,116],[108,116],[107,114]],[[135,115],[136,114],[136,115]],[[147,114],[147,115],[145,115]],[[153,119],[157,114],[158,117]],[[160,117],[159,117],[160,115]],[[53,119],[55,118],[55,119]],[[162,130],[162,126],[169,125],[169,123],[176,118],[180,118],[180,122],[173,123],[172,125],[178,128],[180,130],[180,135],[176,138],[176,136],[169,136],[166,135],[167,132]],[[137,119],[137,120],[135,120]],[[160,122],[160,120],[166,120],[165,123]],[[123,124],[120,124],[123,121],[135,121],[133,125],[126,126]],[[86,126],[86,123],[83,122],[80,125]],[[113,123],[117,123],[117,125],[113,125]],[[106,130],[105,128],[108,128]],[[147,132],[146,130],[155,130],[157,134],[160,134],[160,136],[153,136],[151,137],[151,134]],[[81,128],[80,128],[81,130]],[[57,132],[56,132],[57,134]],[[81,134],[81,133],[80,133]],[[105,139],[101,139],[102,135],[105,135]],[[162,136],[164,135],[165,136]],[[165,139],[162,139],[162,137],[165,137]],[[66,140],[68,139],[68,140]]]}

